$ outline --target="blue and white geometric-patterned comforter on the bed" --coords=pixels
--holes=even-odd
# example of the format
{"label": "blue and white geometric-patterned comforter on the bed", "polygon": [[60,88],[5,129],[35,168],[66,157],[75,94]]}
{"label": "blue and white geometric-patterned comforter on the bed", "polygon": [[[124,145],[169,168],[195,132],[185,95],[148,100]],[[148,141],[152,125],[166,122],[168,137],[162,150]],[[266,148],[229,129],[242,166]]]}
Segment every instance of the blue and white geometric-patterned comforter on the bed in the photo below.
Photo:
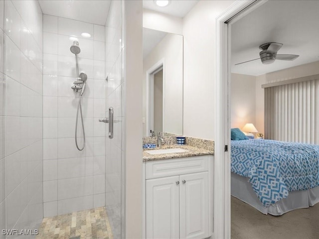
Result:
{"label": "blue and white geometric-patterned comforter on the bed", "polygon": [[291,191],[319,186],[319,145],[232,140],[231,171],[248,177],[259,200],[268,207]]}

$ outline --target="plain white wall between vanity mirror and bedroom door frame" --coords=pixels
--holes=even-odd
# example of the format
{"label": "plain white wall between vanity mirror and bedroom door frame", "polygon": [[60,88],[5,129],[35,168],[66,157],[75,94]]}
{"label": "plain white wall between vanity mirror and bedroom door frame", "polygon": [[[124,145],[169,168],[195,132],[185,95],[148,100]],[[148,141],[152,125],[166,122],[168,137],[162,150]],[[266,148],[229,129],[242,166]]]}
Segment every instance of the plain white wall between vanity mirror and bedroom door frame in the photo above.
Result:
{"label": "plain white wall between vanity mirror and bedroom door frame", "polygon": [[214,139],[215,19],[233,2],[199,1],[183,18],[184,135]]}

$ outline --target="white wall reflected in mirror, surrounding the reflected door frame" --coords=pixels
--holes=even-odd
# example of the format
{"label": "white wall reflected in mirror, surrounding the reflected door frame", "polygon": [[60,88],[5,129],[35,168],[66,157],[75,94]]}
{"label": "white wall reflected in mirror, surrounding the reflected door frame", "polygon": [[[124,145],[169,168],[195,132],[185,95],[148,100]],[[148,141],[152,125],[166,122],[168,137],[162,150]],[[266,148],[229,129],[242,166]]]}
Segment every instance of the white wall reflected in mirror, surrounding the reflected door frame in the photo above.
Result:
{"label": "white wall reflected in mirror, surrounding the reflected door frame", "polygon": [[[147,71],[160,60],[163,64],[163,131],[182,134],[183,120],[183,37],[167,34],[143,60],[143,117],[146,119]],[[143,135],[147,135],[145,123]]]}

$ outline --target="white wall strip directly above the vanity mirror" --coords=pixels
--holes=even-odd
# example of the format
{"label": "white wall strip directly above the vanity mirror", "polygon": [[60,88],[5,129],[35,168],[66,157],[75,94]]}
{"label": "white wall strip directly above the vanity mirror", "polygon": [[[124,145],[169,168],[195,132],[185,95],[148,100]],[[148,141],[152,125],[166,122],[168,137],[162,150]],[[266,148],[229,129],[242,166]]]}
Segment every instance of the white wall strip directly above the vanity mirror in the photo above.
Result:
{"label": "white wall strip directly above the vanity mirror", "polygon": [[143,27],[174,34],[183,34],[182,18],[143,8]]}

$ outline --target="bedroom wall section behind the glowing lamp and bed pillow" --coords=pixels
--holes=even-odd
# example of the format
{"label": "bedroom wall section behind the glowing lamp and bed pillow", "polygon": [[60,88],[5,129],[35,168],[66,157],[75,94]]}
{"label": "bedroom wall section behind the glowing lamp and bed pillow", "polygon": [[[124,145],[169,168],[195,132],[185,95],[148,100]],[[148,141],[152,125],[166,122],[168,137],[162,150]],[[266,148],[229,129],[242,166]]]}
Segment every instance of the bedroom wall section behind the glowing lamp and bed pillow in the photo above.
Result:
{"label": "bedroom wall section behind the glowing lamp and bed pillow", "polygon": [[256,126],[256,105],[256,77],[232,73],[230,126],[242,128],[246,123],[253,123],[261,131]]}

